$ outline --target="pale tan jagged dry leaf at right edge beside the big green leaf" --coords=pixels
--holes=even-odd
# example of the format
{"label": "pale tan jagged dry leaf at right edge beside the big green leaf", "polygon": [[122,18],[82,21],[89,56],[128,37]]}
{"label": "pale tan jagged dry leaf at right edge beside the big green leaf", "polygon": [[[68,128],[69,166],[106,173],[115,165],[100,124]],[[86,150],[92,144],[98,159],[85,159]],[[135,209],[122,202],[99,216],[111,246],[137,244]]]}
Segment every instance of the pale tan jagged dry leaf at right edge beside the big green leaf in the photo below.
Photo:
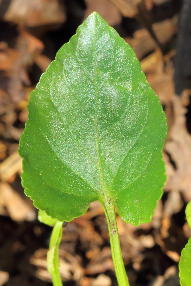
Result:
{"label": "pale tan jagged dry leaf at right edge beside the big green leaf", "polygon": [[191,135],[186,129],[186,108],[181,97],[172,98],[174,110],[174,125],[171,127],[170,138],[165,143],[164,150],[170,154],[176,165],[174,176],[166,184],[165,190],[182,192],[186,202],[191,200]]}

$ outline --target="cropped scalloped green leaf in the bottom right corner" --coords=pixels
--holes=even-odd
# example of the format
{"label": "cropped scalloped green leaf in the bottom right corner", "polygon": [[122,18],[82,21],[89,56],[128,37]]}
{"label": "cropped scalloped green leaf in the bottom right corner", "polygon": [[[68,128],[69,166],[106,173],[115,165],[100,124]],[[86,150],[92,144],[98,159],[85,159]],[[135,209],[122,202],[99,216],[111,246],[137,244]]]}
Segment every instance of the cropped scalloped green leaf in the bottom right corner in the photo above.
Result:
{"label": "cropped scalloped green leaf in the bottom right corner", "polygon": [[188,240],[185,248],[182,249],[179,262],[180,284],[182,286],[190,286],[191,281],[191,238]]}

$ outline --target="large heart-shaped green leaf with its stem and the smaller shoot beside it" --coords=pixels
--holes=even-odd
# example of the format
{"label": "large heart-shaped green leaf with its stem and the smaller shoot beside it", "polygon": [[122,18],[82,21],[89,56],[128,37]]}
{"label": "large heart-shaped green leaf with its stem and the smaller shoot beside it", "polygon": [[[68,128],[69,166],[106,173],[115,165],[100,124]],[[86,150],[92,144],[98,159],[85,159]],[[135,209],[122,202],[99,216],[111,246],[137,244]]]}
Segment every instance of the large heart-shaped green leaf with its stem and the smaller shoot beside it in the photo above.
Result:
{"label": "large heart-shaped green leaf with its stem and the smaller shoot beside it", "polygon": [[115,206],[126,223],[147,223],[166,181],[166,117],[135,53],[92,13],[41,76],[28,112],[19,148],[22,184],[42,210],[41,221],[53,220],[48,252],[53,285],[62,285],[63,222],[99,201],[119,286],[129,286]]}

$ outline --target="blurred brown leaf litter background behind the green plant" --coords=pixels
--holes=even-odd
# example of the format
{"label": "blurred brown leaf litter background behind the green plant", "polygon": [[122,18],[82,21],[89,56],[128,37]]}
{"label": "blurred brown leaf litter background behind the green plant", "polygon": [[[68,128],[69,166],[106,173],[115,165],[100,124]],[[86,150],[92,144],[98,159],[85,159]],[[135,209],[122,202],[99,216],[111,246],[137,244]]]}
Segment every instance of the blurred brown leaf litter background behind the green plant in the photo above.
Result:
{"label": "blurred brown leaf litter background behind the green plant", "polygon": [[[150,223],[118,216],[131,286],[179,286],[178,261],[191,236],[191,0],[0,0],[0,286],[48,286],[51,227],[23,193],[18,143],[27,103],[56,51],[93,11],[131,45],[166,112],[167,183]],[[117,286],[107,223],[94,202],[63,229],[64,286]]]}

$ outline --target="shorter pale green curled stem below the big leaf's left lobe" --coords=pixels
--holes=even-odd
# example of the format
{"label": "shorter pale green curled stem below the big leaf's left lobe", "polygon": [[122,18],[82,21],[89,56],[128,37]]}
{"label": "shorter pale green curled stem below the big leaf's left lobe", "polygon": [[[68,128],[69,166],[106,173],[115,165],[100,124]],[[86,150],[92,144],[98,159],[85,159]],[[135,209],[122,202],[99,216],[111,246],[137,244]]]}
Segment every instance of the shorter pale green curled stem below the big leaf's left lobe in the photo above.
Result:
{"label": "shorter pale green curled stem below the big leaf's left lobe", "polygon": [[62,286],[60,278],[60,261],[58,248],[62,239],[63,222],[57,221],[50,238],[49,251],[47,253],[47,269],[52,276],[52,283],[54,286]]}

